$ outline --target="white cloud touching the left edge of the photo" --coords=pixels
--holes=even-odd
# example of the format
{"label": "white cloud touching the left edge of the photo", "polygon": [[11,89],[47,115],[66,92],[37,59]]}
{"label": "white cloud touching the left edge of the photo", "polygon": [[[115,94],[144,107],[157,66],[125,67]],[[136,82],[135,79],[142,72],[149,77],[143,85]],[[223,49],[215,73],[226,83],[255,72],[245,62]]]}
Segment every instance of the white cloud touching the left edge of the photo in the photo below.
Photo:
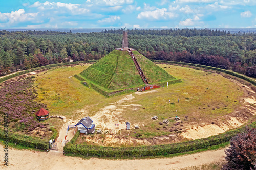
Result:
{"label": "white cloud touching the left edge of the photo", "polygon": [[0,13],[0,21],[6,22],[2,23],[3,25],[13,25],[18,22],[27,22],[27,21],[35,21],[37,13],[25,13],[24,9],[19,9],[17,11],[12,11],[11,13]]}

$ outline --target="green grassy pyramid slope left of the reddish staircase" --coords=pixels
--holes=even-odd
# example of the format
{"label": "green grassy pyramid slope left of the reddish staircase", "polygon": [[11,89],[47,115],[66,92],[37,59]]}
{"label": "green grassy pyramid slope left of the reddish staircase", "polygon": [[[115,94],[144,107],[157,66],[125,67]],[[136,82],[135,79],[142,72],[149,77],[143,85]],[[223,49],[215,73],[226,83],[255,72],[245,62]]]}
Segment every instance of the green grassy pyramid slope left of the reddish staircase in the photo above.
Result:
{"label": "green grassy pyramid slope left of the reddish staircase", "polygon": [[113,50],[81,72],[80,76],[109,91],[144,84],[127,51]]}

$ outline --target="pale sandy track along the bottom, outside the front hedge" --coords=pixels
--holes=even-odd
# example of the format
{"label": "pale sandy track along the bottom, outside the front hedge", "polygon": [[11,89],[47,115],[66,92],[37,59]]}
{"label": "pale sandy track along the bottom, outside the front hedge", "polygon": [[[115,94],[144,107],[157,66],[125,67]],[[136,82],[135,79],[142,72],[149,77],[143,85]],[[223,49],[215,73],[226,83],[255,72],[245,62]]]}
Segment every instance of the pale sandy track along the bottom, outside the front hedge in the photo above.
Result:
{"label": "pale sandy track along the bottom, outside the front hedge", "polygon": [[[29,150],[9,150],[9,166],[0,165],[0,169],[179,169],[201,166],[213,162],[223,162],[224,149],[205,151],[196,154],[165,159],[141,160],[104,160],[63,156],[57,152],[38,152]],[[4,148],[0,146],[0,155]]]}

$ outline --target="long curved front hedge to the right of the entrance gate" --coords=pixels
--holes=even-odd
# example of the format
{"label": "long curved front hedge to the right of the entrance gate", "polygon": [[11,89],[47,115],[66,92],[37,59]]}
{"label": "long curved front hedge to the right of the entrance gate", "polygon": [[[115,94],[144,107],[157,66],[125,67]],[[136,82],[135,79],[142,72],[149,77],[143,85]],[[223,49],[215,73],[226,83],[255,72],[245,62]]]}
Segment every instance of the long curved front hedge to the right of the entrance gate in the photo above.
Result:
{"label": "long curved front hedge to the right of the entrance gate", "polygon": [[[256,127],[253,122],[251,127]],[[245,127],[227,131],[226,133],[211,136],[208,138],[186,141],[181,143],[172,143],[165,145],[139,146],[139,147],[102,147],[97,145],[79,145],[71,142],[65,145],[65,154],[83,155],[83,156],[154,156],[167,155],[181,152],[188,152],[197,149],[208,148],[212,145],[218,145],[228,142],[233,136],[242,132]],[[73,142],[74,143],[74,142]]]}

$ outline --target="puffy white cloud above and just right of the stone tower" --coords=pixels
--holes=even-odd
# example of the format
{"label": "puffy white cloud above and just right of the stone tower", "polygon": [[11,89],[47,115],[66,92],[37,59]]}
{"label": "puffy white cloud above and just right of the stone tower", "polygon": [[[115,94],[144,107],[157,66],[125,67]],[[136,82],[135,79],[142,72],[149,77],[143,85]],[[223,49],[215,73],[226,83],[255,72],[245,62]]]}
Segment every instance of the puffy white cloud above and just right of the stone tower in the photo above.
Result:
{"label": "puffy white cloud above and just right of the stone tower", "polygon": [[137,16],[138,19],[148,19],[148,20],[162,20],[162,19],[171,19],[176,17],[177,14],[172,12],[167,12],[166,8],[159,9],[157,8],[154,11],[144,11],[139,13]]}

